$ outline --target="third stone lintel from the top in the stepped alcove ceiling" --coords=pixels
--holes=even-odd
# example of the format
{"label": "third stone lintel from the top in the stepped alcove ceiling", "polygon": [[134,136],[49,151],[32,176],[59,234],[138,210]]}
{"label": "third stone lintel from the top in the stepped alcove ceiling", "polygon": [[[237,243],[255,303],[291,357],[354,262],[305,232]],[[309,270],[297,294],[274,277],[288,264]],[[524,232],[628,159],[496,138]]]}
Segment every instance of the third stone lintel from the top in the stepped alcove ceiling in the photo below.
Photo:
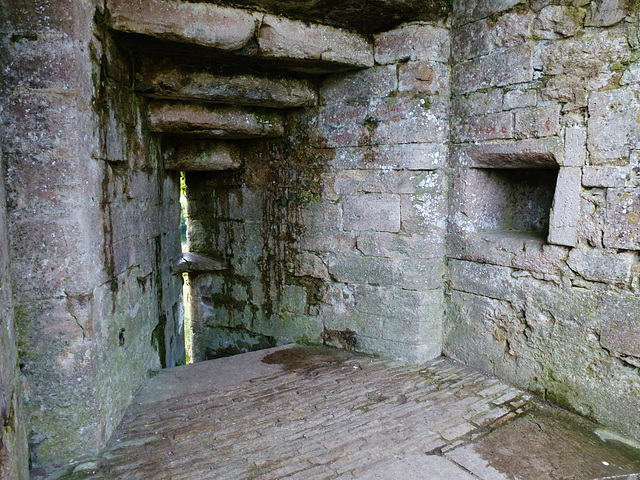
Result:
{"label": "third stone lintel from the top in the stepped alcove ceiling", "polygon": [[284,134],[284,117],[275,111],[163,101],[152,101],[148,107],[154,133],[226,139]]}

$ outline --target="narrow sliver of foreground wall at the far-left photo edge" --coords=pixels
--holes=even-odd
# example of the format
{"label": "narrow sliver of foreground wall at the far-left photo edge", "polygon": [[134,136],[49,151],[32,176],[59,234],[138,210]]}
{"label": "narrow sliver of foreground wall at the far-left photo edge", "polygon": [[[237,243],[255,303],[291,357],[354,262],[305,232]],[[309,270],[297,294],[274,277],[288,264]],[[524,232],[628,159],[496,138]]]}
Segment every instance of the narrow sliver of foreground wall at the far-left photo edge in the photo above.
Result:
{"label": "narrow sliver of foreground wall at the far-left photo edge", "polygon": [[26,480],[29,478],[27,437],[20,398],[9,260],[4,164],[0,154],[0,477]]}

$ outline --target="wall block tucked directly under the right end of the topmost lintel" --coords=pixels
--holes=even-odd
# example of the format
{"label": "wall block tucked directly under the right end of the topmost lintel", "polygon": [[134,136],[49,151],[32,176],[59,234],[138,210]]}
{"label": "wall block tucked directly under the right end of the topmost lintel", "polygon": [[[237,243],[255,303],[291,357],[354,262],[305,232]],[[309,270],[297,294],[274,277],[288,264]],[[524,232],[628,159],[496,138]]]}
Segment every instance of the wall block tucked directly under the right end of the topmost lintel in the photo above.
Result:
{"label": "wall block tucked directly under the right end of the topmost lintel", "polygon": [[388,97],[398,90],[394,65],[371,67],[327,77],[320,87],[323,104],[368,103],[372,98]]}

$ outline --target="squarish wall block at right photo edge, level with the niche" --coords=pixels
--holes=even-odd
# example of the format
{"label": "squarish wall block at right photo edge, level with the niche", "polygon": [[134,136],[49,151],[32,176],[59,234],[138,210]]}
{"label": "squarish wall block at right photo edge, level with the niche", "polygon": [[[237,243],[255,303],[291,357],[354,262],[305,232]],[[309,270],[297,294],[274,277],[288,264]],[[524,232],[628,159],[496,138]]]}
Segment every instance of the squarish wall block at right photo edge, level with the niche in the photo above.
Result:
{"label": "squarish wall block at right photo edge, level with the niche", "polygon": [[640,195],[637,188],[607,191],[603,240],[608,248],[640,250]]}

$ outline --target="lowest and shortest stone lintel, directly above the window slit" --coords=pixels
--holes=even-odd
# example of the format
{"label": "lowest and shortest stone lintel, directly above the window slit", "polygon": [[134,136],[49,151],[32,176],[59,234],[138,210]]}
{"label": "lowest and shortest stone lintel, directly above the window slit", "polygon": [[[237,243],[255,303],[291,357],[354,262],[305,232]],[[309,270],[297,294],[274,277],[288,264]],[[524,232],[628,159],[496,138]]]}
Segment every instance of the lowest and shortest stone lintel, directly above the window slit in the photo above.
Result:
{"label": "lowest and shortest stone lintel, directly above the window slit", "polygon": [[242,164],[240,150],[228,142],[190,140],[177,142],[164,152],[165,170],[212,172],[237,170]]}

